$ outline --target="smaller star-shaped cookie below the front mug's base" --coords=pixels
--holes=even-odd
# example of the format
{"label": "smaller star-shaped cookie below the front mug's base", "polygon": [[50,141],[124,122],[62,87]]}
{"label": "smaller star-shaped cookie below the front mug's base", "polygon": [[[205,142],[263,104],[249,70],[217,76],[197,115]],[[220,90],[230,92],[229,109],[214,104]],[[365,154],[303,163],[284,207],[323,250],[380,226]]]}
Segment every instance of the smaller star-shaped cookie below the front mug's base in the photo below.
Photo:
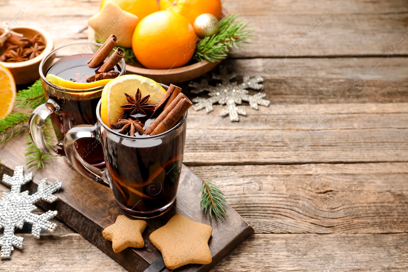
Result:
{"label": "smaller star-shaped cookie below the front mug's base", "polygon": [[113,252],[118,253],[125,248],[143,248],[142,233],[146,228],[146,221],[131,220],[119,215],[116,222],[102,231],[106,240],[112,241]]}

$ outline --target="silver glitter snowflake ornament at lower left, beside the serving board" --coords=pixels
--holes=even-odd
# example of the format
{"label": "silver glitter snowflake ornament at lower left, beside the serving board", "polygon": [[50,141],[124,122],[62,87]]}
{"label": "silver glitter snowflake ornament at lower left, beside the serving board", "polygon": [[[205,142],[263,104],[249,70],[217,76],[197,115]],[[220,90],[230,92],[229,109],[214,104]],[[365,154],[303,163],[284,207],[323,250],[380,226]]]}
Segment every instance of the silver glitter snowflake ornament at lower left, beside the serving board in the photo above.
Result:
{"label": "silver glitter snowflake ornament at lower left, beside the serving board", "polygon": [[9,193],[4,193],[0,199],[0,228],[4,228],[3,236],[0,237],[1,255],[0,259],[8,259],[13,247],[22,248],[23,238],[14,235],[14,228],[22,228],[24,222],[33,225],[31,234],[35,238],[40,238],[41,230],[53,232],[55,223],[49,219],[57,215],[57,211],[49,210],[42,215],[32,213],[36,207],[33,205],[42,199],[49,203],[57,200],[53,192],[61,188],[61,182],[56,181],[47,185],[47,179],[42,179],[38,184],[37,192],[32,195],[28,191],[21,192],[21,186],[33,179],[32,173],[23,175],[23,167],[16,166],[13,177],[4,174],[2,182],[11,186]]}

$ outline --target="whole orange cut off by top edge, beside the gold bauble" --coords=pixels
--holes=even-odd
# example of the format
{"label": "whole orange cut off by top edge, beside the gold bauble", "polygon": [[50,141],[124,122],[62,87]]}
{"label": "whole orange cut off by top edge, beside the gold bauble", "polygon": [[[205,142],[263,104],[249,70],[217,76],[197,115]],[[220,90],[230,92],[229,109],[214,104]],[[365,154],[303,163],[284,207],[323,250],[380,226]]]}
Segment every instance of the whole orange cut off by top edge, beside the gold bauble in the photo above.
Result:
{"label": "whole orange cut off by top edge, beside the gold bauble", "polygon": [[220,0],[160,0],[160,10],[171,10],[183,14],[194,24],[195,18],[203,13],[211,13],[221,19]]}

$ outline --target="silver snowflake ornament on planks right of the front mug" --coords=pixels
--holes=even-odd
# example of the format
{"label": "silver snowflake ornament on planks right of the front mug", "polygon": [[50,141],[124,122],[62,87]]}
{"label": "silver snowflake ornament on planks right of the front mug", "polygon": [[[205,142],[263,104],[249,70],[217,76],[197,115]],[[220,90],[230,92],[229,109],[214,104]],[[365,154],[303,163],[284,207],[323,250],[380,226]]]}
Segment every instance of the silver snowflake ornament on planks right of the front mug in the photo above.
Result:
{"label": "silver snowflake ornament on planks right of the front mug", "polygon": [[[213,79],[221,80],[222,83],[218,83],[216,86],[211,86],[208,84],[208,81],[202,79],[200,83],[190,82],[188,86],[193,87],[192,93],[201,93],[203,91],[208,91],[208,98],[195,97],[192,101],[196,104],[193,105],[195,111],[199,111],[203,108],[206,109],[206,112],[209,113],[213,111],[213,104],[218,103],[220,105],[227,104],[230,100],[233,100],[235,104],[241,104],[242,101],[249,102],[251,108],[258,109],[258,105],[269,106],[270,101],[263,99],[265,94],[257,93],[255,95],[249,95],[249,91],[246,90],[251,88],[253,90],[260,90],[264,85],[262,77],[253,77],[244,76],[243,82],[238,84],[237,82],[231,82],[232,78],[236,77],[235,73],[227,72],[225,67],[220,66],[220,75],[213,74]],[[260,92],[259,91],[259,92]],[[234,104],[234,106],[235,106]],[[231,105],[229,105],[231,106]],[[221,114],[220,114],[221,115]],[[234,115],[235,116],[235,115]],[[237,121],[238,115],[236,118],[232,118],[231,121]]]}

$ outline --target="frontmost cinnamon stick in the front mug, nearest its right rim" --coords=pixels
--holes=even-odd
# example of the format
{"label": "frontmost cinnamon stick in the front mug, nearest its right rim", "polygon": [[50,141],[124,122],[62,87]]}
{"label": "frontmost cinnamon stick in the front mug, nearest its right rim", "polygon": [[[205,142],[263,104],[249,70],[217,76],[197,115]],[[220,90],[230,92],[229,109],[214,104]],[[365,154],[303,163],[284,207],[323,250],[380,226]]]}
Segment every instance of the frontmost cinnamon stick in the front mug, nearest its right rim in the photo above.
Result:
{"label": "frontmost cinnamon stick in the front mug, nearest its right rim", "polygon": [[[164,133],[173,128],[191,105],[193,105],[193,103],[191,103],[184,94],[180,93],[177,95],[173,102],[171,102],[170,105],[156,118],[156,120],[159,119],[159,121],[153,131],[149,134],[153,136]],[[154,122],[156,122],[156,120]],[[153,123],[150,126],[152,126]],[[147,134],[147,129],[145,132]]]}

